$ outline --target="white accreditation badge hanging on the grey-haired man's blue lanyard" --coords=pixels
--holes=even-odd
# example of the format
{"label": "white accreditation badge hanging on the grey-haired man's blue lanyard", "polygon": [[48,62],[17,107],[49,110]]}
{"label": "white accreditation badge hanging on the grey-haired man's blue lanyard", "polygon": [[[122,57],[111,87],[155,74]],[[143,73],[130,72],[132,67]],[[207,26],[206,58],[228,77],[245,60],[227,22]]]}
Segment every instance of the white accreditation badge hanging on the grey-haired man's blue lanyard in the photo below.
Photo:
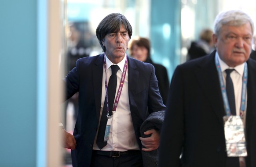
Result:
{"label": "white accreditation badge hanging on the grey-haired man's blue lanyard", "polygon": [[241,117],[224,116],[227,156],[247,156],[244,124]]}

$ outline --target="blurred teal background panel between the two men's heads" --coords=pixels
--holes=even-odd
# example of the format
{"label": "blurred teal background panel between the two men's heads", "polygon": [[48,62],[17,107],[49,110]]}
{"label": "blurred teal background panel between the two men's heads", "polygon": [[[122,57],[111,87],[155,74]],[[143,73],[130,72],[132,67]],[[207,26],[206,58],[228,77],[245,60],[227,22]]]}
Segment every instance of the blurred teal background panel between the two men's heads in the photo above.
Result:
{"label": "blurred teal background panel between the two men's heads", "polygon": [[179,0],[151,0],[152,59],[167,68],[169,80],[180,64],[180,6]]}

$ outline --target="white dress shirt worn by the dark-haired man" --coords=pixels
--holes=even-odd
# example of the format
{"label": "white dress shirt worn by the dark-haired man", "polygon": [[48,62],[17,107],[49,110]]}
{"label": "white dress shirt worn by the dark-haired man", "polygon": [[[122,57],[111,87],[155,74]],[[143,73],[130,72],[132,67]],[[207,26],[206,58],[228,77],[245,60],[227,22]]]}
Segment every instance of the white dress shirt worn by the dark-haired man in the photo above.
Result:
{"label": "white dress shirt worn by the dark-haired man", "polygon": [[[114,65],[118,65],[119,67],[119,70],[117,71],[117,90],[119,89],[119,84],[121,81],[124,64],[125,64],[125,57],[118,64],[114,64]],[[103,110],[105,97],[106,97],[105,79],[107,78],[107,83],[108,83],[110,75],[112,74],[111,68],[110,68],[111,65],[113,65],[113,63],[106,57],[106,73],[105,73],[104,66],[102,67],[103,76],[102,76],[100,118],[102,115],[102,110]],[[137,143],[137,140],[135,137],[135,131],[132,124],[132,116],[131,116],[131,110],[129,105],[128,70],[129,68],[127,66],[124,85],[123,85],[121,96],[117,105],[117,110],[115,113],[113,113],[109,140],[107,141],[107,145],[101,149],[103,151],[127,151],[129,149],[139,150],[139,145]],[[115,98],[117,96],[117,90],[116,90]],[[93,149],[99,150],[99,147],[96,144],[97,136],[98,136],[98,131],[95,137]]]}

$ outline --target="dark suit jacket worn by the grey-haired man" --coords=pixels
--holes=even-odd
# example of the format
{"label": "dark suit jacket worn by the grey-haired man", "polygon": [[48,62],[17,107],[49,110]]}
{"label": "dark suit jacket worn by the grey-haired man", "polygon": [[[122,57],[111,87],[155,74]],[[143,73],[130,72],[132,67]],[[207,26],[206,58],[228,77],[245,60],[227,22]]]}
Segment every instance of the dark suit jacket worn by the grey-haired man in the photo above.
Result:
{"label": "dark suit jacket worn by the grey-haired man", "polygon": [[[179,65],[174,72],[161,130],[159,167],[225,167],[225,110],[215,53]],[[256,167],[256,61],[249,59],[247,64],[246,167]]]}

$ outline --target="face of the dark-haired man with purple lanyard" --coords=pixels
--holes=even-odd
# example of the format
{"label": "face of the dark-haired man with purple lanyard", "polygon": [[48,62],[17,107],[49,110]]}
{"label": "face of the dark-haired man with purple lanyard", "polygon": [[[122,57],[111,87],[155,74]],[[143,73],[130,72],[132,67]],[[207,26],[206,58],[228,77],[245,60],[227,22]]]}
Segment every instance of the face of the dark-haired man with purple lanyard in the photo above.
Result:
{"label": "face of the dark-haired man with purple lanyard", "polygon": [[128,31],[123,25],[121,25],[119,32],[107,34],[104,41],[102,41],[102,44],[106,47],[106,55],[113,63],[113,60],[123,59],[128,49],[128,43]]}

